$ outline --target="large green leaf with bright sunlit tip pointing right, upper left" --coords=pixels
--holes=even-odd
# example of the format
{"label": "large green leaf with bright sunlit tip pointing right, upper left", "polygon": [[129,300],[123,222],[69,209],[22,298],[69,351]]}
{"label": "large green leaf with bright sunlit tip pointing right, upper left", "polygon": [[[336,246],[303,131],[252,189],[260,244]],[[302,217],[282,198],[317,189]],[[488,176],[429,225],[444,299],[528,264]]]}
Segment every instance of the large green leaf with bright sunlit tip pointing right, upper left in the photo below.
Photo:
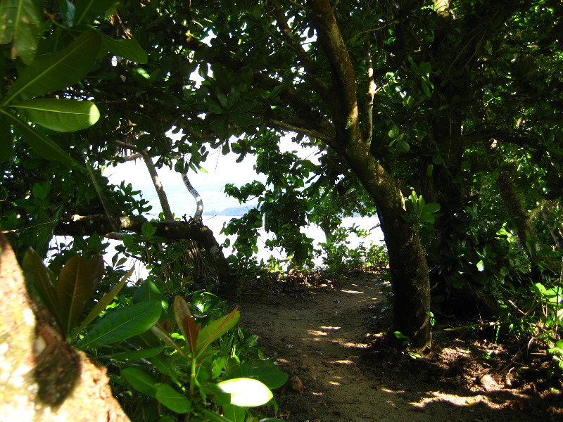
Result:
{"label": "large green leaf with bright sunlit tip pointing right, upper left", "polygon": [[74,132],[96,123],[100,112],[91,101],[68,98],[34,98],[11,104],[34,123],[58,132]]}

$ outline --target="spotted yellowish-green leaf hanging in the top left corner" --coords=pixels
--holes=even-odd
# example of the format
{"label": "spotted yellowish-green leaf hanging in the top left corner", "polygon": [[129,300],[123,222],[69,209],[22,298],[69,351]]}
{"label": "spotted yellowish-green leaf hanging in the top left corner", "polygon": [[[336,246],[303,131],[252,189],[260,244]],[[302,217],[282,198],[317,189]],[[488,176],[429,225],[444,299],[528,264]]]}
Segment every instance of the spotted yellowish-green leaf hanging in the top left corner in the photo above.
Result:
{"label": "spotted yellowish-green leaf hanging in the top left corner", "polygon": [[13,42],[12,57],[19,55],[24,63],[30,63],[37,53],[41,35],[42,2],[2,0],[0,22],[0,44]]}

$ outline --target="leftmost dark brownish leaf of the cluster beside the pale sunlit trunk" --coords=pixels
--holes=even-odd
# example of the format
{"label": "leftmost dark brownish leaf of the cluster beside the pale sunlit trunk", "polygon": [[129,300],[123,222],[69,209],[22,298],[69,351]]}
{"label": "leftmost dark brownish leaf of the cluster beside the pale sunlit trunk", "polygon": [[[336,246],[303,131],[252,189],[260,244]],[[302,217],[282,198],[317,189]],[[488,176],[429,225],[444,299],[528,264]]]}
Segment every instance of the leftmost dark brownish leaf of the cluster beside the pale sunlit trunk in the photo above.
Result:
{"label": "leftmost dark brownish leaf of the cluster beside the pale sunlit trunk", "polygon": [[45,267],[43,260],[33,248],[27,248],[23,257],[22,268],[25,279],[37,289],[39,297],[59,326],[63,326],[61,318],[61,309],[58,307],[58,300],[55,288],[55,275]]}

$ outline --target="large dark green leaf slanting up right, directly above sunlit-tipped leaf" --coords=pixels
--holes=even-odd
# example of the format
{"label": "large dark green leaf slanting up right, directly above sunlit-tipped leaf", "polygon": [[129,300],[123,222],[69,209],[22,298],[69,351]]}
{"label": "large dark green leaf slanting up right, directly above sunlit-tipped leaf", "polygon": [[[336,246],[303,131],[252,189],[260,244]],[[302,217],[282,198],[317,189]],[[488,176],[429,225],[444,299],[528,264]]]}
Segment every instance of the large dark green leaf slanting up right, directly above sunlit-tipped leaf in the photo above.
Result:
{"label": "large dark green leaf slanting up right, directly above sunlit-tipped leaf", "polygon": [[37,56],[15,79],[4,105],[14,98],[24,100],[49,94],[79,82],[94,65],[99,49],[99,34],[87,30],[62,51]]}

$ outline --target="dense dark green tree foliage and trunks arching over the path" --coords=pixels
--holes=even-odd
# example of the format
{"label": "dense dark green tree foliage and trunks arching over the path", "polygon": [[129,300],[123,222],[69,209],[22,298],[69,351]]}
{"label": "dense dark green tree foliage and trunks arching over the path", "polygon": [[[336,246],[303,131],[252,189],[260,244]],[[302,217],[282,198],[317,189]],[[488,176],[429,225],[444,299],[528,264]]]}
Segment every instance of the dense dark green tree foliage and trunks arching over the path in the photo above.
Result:
{"label": "dense dark green tree foliage and trunks arching over the path", "polygon": [[[327,262],[339,262],[341,217],[377,212],[391,331],[422,349],[432,312],[502,316],[499,334],[543,341],[559,359],[562,8],[3,0],[0,224],[22,259],[72,235],[51,250],[55,273],[118,238],[155,286],[177,293],[247,267],[262,226],[303,267],[314,250],[301,229],[318,224]],[[319,164],[281,153],[283,134],[317,147]],[[260,203],[226,229],[239,235],[230,267],[200,222],[171,222],[161,196],[163,214],[148,223],[137,192],[101,175],[129,151],[149,170],[185,174],[217,148],[256,155],[267,175],[227,186]],[[186,252],[198,243],[217,255],[213,271],[207,255]],[[119,260],[107,269],[115,280]]]}

